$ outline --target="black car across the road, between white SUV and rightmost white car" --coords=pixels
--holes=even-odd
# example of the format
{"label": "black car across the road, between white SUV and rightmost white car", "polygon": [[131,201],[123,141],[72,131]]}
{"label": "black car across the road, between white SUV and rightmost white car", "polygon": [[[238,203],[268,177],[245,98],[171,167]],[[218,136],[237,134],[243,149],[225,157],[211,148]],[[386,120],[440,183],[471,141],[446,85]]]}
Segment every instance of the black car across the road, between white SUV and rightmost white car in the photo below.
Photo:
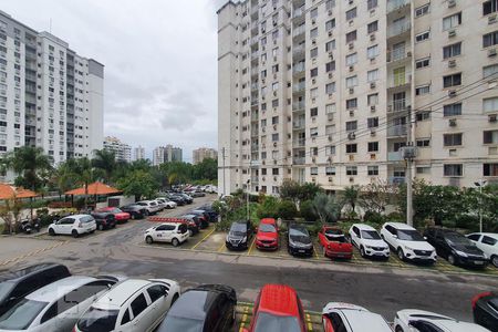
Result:
{"label": "black car across the road, between white SUV and rightmost white car", "polygon": [[424,231],[427,242],[436,248],[439,257],[444,257],[450,264],[486,268],[488,258],[483,250],[463,236],[450,229],[429,227]]}

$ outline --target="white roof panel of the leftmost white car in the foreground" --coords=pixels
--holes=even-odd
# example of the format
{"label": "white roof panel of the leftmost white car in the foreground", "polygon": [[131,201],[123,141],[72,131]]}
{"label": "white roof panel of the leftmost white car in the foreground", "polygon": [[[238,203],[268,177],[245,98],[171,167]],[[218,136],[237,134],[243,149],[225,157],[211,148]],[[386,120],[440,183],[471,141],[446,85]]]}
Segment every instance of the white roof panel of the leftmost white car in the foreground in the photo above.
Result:
{"label": "white roof panel of the leftmost white car in the foreground", "polygon": [[53,300],[59,299],[62,294],[69,293],[97,279],[92,277],[71,276],[49,283],[48,286],[28,294],[25,298],[33,301],[52,302]]}

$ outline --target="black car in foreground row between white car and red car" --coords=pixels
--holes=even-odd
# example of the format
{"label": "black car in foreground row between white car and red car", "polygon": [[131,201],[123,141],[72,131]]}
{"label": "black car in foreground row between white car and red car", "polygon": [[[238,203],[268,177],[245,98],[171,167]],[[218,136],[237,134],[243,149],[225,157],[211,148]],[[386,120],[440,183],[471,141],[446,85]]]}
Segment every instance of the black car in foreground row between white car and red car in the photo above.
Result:
{"label": "black car in foreground row between white car and red car", "polygon": [[157,332],[232,331],[236,318],[236,291],[224,284],[203,284],[187,290],[172,305]]}

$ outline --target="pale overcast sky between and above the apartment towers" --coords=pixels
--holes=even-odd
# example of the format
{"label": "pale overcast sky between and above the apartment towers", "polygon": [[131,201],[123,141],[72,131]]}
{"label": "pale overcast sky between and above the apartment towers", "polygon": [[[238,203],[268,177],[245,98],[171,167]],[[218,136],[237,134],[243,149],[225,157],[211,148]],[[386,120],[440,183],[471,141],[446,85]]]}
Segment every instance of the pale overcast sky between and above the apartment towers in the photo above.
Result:
{"label": "pale overcast sky between and above the apartment towers", "polygon": [[225,0],[0,0],[0,10],[105,65],[104,135],[147,156],[217,147],[217,17]]}

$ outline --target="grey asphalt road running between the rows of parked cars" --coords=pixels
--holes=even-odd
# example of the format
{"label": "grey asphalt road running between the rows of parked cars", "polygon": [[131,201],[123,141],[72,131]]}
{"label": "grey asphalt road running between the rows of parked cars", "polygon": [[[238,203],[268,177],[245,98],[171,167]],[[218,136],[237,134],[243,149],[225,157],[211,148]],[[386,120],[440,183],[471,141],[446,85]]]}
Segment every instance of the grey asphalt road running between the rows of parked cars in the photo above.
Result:
{"label": "grey asphalt road running between the rows of parked cars", "polygon": [[[195,205],[179,207],[168,215],[178,216],[209,199],[198,198]],[[129,221],[115,230],[79,239],[64,238],[68,243],[28,257],[18,266],[58,261],[68,264],[76,274],[170,278],[184,288],[225,283],[237,290],[239,300],[250,302],[263,284],[286,283],[297,289],[308,310],[320,311],[330,301],[344,301],[381,313],[390,321],[397,310],[407,308],[470,321],[473,295],[498,290],[498,278],[495,277],[178,251],[169,250],[168,245],[153,248],[143,242],[143,231],[152,225],[145,220]]]}

